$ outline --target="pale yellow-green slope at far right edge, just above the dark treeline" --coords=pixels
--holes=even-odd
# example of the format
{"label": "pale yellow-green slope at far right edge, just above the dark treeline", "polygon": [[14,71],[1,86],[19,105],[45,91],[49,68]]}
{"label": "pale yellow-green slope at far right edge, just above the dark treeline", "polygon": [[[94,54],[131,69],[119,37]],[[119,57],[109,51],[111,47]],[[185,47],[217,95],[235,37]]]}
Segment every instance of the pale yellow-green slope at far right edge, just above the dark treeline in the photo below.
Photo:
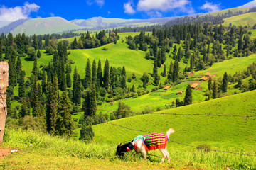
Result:
{"label": "pale yellow-green slope at far right edge, just above the dark treeline", "polygon": [[245,13],[240,16],[225,18],[223,26],[229,26],[230,23],[234,26],[254,26],[256,23],[256,13]]}

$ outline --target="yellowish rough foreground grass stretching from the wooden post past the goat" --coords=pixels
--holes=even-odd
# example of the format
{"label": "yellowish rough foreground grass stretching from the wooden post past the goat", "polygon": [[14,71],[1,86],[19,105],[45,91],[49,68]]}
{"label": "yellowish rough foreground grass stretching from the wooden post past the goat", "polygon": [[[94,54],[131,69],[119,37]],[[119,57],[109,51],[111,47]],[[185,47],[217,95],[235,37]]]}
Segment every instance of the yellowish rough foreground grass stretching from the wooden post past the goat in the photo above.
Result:
{"label": "yellowish rough foreground grass stretching from the wooden post past the goat", "polygon": [[197,169],[190,162],[159,164],[160,158],[145,162],[134,152],[124,159],[114,155],[115,145],[85,143],[52,137],[41,132],[7,130],[2,147],[19,149],[0,159],[2,169]]}

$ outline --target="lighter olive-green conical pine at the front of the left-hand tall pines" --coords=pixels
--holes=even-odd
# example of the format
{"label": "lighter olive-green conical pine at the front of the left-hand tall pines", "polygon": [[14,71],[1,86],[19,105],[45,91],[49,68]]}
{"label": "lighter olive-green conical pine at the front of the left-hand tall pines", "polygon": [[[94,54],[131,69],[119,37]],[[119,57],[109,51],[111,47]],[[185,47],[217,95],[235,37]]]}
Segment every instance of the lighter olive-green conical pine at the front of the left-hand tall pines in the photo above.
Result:
{"label": "lighter olive-green conical pine at the front of the left-hand tall pines", "polygon": [[68,92],[63,91],[58,101],[58,110],[55,122],[55,135],[71,137],[73,134],[73,120],[70,114],[70,100]]}

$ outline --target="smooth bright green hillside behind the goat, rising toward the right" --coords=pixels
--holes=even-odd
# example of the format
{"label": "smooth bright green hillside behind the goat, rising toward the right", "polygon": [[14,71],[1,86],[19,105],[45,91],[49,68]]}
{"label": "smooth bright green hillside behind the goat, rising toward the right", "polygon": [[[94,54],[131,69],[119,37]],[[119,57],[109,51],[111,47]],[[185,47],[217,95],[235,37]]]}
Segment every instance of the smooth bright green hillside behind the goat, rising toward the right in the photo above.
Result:
{"label": "smooth bright green hillside behind the goat, rising toward the right", "polygon": [[[164,113],[255,115],[255,95],[256,91],[250,91],[244,94],[237,94],[203,103],[196,103],[190,106],[170,109],[164,111]],[[172,127],[176,132],[171,135],[171,140],[176,142],[193,146],[207,144],[210,145],[212,149],[256,154],[256,147],[254,145],[256,141],[255,118],[148,114],[115,120],[111,123],[147,132],[165,133]],[[137,135],[146,134],[146,132],[127,130],[109,124],[94,125],[93,129],[95,131],[96,141],[113,145],[117,145],[119,142],[128,142]],[[169,142],[168,149],[172,158],[185,160],[193,159],[191,158],[193,157],[191,153],[195,151],[193,147],[178,145],[173,142]],[[158,152],[153,152],[153,154],[157,153]],[[194,156],[194,158],[195,157],[197,156]],[[211,159],[210,157],[214,158]],[[220,152],[210,152],[209,155],[204,155],[196,162],[212,164],[212,166],[215,166],[215,164],[223,164],[219,166],[219,169],[223,169],[225,165],[231,166],[228,164],[242,164],[239,163],[238,160],[247,162],[248,166],[251,164],[251,167],[256,167],[255,157],[240,157],[234,154],[223,154]],[[235,167],[235,165],[233,165],[233,169],[246,168],[243,166]]]}

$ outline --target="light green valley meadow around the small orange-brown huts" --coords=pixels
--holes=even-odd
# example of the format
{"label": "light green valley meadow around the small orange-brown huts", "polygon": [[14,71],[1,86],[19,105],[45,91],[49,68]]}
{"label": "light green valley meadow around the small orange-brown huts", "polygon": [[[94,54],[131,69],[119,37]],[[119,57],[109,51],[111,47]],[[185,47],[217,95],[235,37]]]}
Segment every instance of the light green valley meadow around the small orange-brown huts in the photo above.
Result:
{"label": "light green valley meadow around the small orange-brown huts", "polygon": [[[193,77],[200,76],[201,74],[206,74],[206,72],[210,72],[211,74],[217,74],[217,77],[213,77],[213,79],[217,79],[223,77],[223,74],[225,72],[231,75],[235,74],[235,72],[242,72],[243,70],[247,69],[247,66],[249,64],[252,64],[253,62],[256,62],[256,55],[242,58],[233,58],[231,60],[214,63],[212,67],[206,70],[196,72]],[[181,84],[178,84],[177,86],[172,87],[168,91],[161,93],[160,96],[146,94],[137,98],[125,99],[123,100],[123,102],[130,106],[132,111],[143,111],[144,108],[151,108],[154,110],[156,110],[156,108],[158,107],[164,108],[166,105],[171,105],[172,101],[176,101],[176,98],[179,98],[183,101],[184,94],[181,96],[177,96],[176,91],[186,91],[186,86],[188,86],[188,82],[183,82]],[[193,90],[193,103],[201,102],[206,98],[205,96],[203,96],[203,93],[206,92],[206,90],[208,89],[208,83],[202,82],[199,86],[202,88],[202,91]],[[233,91],[228,89],[228,94],[232,93]],[[117,107],[117,102],[114,102],[114,104],[107,103],[102,106],[98,106],[98,108],[105,110],[116,110]]]}

